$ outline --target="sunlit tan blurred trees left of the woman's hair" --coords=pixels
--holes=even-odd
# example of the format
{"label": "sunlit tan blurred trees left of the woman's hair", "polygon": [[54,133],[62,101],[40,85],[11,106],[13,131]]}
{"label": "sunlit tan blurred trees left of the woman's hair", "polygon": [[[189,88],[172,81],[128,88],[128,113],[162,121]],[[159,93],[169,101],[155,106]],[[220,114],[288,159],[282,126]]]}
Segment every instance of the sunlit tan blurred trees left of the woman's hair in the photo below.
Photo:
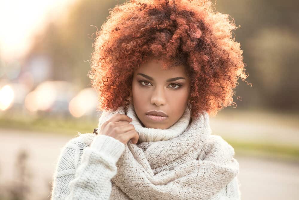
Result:
{"label": "sunlit tan blurred trees left of the woman's hair", "polygon": [[[124,1],[119,1],[123,3]],[[85,88],[90,79],[87,74],[93,50],[92,33],[100,29],[109,15],[109,8],[116,1],[77,1],[59,21],[49,22],[44,31],[36,35],[35,42],[28,53],[28,59],[38,54],[51,57],[53,80],[74,82]]]}

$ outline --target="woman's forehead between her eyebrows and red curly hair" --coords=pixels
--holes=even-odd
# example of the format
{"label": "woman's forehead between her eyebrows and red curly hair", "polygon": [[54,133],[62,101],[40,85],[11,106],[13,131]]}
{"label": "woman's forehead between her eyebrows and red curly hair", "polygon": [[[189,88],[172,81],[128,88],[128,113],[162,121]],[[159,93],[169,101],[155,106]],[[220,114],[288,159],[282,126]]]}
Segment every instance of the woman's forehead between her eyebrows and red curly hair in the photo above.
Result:
{"label": "woman's forehead between her eyebrows and red curly hair", "polygon": [[164,77],[169,77],[169,76],[172,77],[175,75],[187,76],[184,65],[176,65],[171,69],[163,69],[162,64],[163,61],[153,58],[141,64],[134,74],[144,73],[149,76],[164,76]]}

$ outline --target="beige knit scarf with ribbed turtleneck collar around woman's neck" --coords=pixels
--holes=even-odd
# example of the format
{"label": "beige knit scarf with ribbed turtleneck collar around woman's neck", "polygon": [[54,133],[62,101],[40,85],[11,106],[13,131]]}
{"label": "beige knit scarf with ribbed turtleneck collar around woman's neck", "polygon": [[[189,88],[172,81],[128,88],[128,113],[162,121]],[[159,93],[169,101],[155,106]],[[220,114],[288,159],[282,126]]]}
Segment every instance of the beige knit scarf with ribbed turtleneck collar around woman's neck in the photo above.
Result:
{"label": "beige knit scarf with ribbed turtleneck collar around woman's neck", "polygon": [[191,120],[186,107],[168,129],[143,127],[130,100],[127,112],[104,111],[99,127],[116,113],[133,119],[140,144],[125,145],[117,174],[111,179],[110,199],[212,199],[239,171],[234,149],[211,135],[209,115]]}

